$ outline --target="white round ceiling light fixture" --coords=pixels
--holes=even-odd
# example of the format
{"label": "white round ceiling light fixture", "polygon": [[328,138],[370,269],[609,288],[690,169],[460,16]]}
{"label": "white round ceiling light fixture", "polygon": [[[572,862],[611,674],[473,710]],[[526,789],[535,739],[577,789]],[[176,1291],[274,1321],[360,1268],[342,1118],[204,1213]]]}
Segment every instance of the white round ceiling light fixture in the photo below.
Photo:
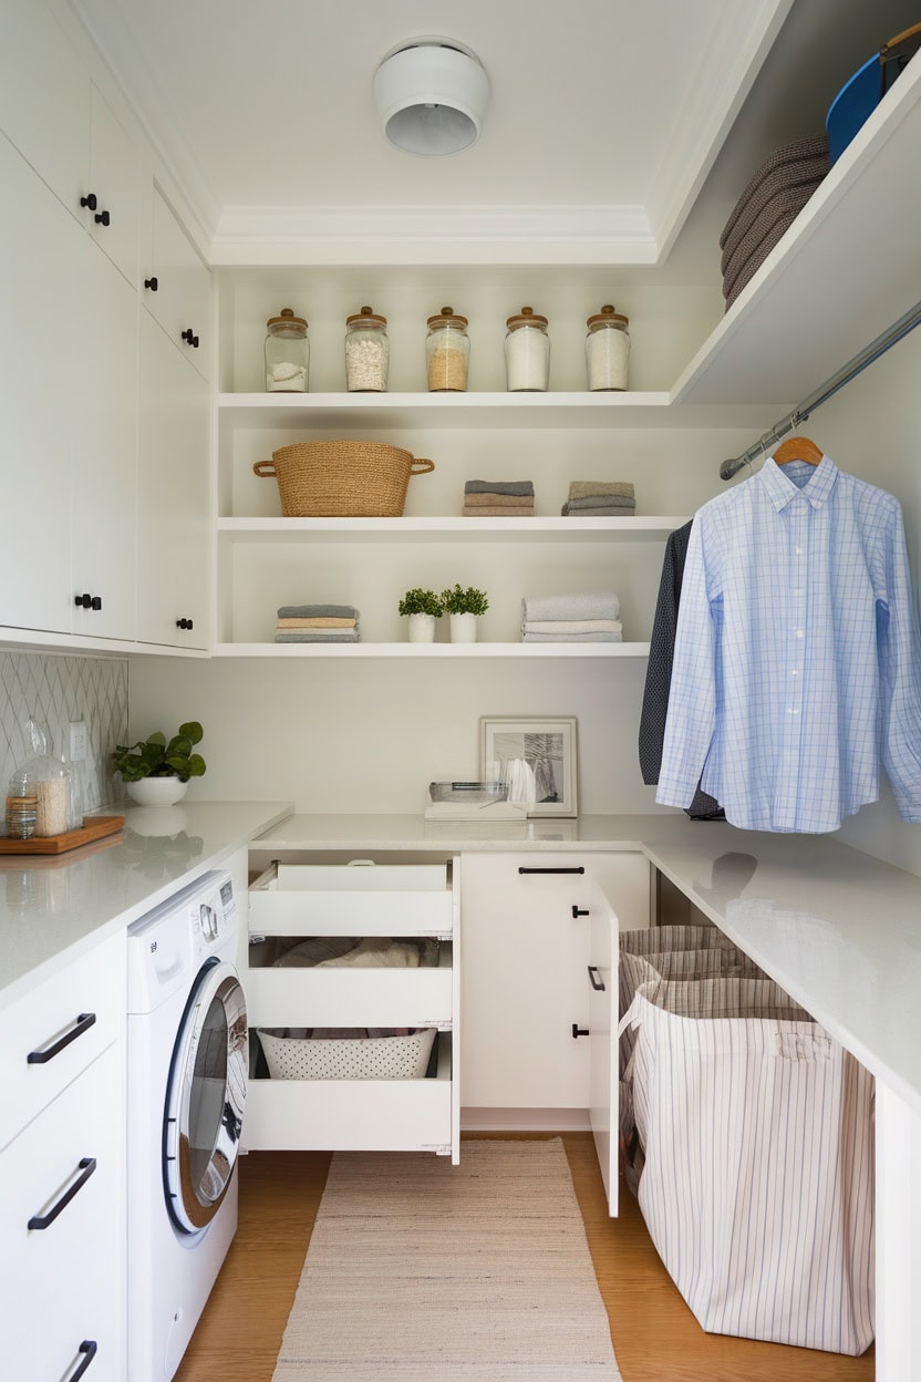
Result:
{"label": "white round ceiling light fixture", "polygon": [[388,53],[374,73],[384,134],[406,153],[458,153],[475,144],[489,77],[475,53],[450,39],[414,39]]}

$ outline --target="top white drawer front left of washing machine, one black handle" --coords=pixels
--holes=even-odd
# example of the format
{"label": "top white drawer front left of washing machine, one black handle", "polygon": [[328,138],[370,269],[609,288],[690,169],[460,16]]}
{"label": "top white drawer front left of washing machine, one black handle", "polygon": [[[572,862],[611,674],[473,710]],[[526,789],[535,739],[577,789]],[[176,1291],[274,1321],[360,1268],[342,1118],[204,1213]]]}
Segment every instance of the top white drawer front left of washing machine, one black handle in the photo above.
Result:
{"label": "top white drawer front left of washing machine, one black handle", "polygon": [[[0,1013],[0,1147],[124,1035],[124,1012],[126,940],[119,934]],[[55,1045],[61,1050],[48,1060],[29,1061]]]}

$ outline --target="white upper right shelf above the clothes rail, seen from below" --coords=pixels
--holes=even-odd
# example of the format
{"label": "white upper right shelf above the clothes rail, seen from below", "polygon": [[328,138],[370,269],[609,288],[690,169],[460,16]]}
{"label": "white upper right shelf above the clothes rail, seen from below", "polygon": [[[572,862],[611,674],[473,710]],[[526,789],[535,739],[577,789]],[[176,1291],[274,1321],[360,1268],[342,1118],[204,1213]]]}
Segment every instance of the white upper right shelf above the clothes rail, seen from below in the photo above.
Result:
{"label": "white upper right shelf above the clothes rail, seen from below", "polygon": [[921,299],[921,54],[675,384],[688,404],[794,406]]}

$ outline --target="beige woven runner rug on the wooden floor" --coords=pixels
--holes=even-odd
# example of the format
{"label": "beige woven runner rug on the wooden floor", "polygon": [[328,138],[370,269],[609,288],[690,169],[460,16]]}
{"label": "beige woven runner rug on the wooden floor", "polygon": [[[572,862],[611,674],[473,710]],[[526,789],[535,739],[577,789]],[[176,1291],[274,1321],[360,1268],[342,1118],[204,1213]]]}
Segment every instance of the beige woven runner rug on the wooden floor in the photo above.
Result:
{"label": "beige woven runner rug on the wooden floor", "polygon": [[562,1142],[337,1153],[272,1382],[620,1382]]}

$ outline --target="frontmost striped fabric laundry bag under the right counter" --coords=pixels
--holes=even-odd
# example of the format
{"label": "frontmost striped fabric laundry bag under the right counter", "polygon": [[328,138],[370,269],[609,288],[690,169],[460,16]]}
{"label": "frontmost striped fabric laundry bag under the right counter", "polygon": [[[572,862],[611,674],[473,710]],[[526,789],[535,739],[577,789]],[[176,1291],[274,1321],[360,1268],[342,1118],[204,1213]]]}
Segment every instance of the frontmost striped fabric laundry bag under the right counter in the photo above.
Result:
{"label": "frontmost striped fabric laundry bag under the right counter", "polygon": [[874,1083],[772,980],[643,984],[639,1208],[711,1334],[859,1354],[874,1334]]}

